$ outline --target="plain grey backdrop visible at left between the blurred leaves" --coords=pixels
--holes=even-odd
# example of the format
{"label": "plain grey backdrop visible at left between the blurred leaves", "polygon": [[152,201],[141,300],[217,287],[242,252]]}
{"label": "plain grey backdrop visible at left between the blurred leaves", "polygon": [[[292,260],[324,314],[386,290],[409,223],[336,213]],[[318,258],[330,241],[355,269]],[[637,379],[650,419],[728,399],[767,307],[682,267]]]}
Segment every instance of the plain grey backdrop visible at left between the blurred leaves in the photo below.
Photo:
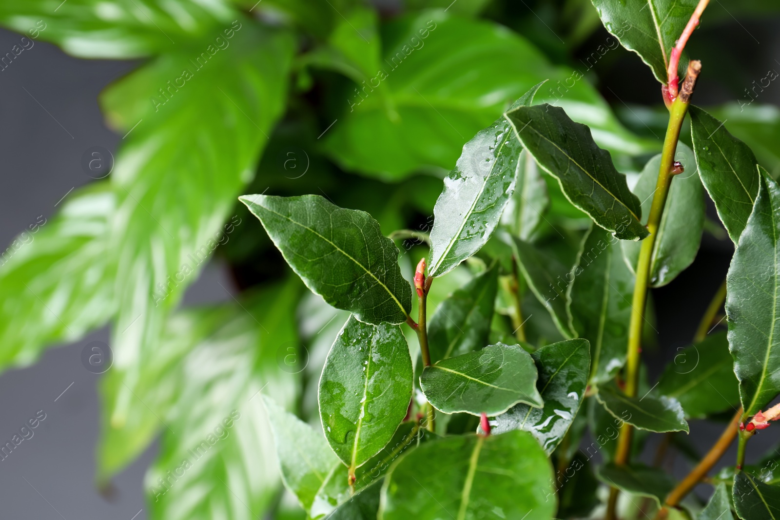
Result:
{"label": "plain grey backdrop visible at left between the blurred leaves", "polygon": [[[0,54],[19,39],[0,30]],[[136,65],[76,59],[36,41],[0,72],[3,248],[39,215],[51,218],[70,189],[92,180],[80,165],[84,150],[116,149],[122,136],[106,128],[97,94]],[[190,287],[185,302],[229,299],[219,284],[230,288],[232,281],[224,266],[212,263]],[[38,410],[46,413],[32,430],[33,437],[0,461],[3,519],[147,518],[142,482],[156,443],[115,478],[110,500],[94,486],[99,376],[84,369],[80,355],[83,346],[95,340],[108,343],[108,327],[73,345],[50,348],[33,366],[0,377],[0,444],[11,440]]]}

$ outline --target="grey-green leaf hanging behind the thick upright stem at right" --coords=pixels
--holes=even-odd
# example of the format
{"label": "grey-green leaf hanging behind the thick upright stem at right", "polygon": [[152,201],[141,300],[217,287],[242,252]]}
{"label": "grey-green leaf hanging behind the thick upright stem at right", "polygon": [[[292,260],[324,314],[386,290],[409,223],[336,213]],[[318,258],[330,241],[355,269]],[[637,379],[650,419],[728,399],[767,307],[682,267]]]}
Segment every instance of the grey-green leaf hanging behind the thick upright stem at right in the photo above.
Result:
{"label": "grey-green leaf hanging behind the thick upright stem at right", "polygon": [[[677,143],[675,159],[683,163],[685,172],[675,175],[669,188],[664,214],[658,226],[651,257],[650,286],[661,287],[685,271],[699,252],[701,233],[704,230],[704,190],[697,174],[693,150],[684,143]],[[642,213],[650,214],[658,182],[661,155],[653,157],[642,171],[633,189],[642,201]],[[647,222],[647,218],[643,219]],[[633,271],[642,248],[641,242],[623,242],[626,261]]]}

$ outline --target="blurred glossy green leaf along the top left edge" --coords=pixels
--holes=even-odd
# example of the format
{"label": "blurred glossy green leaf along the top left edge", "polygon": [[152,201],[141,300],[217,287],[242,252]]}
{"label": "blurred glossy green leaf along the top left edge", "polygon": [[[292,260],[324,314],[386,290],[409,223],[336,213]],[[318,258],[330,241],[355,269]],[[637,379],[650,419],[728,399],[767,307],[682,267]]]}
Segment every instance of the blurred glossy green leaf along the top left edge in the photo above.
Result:
{"label": "blurred glossy green leaf along the top left edge", "polygon": [[[53,7],[46,0],[28,0],[0,6],[0,23],[5,27],[28,37],[40,36],[80,58],[142,58],[204,38],[217,48],[225,45],[222,31],[235,29],[234,20],[246,22],[228,0],[168,4],[69,0]],[[197,52],[201,50],[206,48]]]}

